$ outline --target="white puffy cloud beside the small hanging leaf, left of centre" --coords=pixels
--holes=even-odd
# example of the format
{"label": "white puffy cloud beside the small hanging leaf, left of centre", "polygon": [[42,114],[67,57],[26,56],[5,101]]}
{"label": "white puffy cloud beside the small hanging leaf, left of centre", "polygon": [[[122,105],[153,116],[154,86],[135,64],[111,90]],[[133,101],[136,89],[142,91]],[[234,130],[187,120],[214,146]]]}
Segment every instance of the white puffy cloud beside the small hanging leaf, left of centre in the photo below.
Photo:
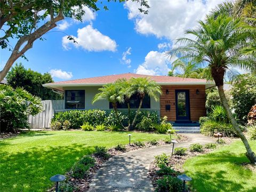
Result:
{"label": "white puffy cloud beside the small hanging leaf, left of centre", "polygon": [[81,47],[87,51],[116,51],[117,44],[110,37],[103,35],[94,29],[91,25],[87,25],[82,29],[77,30],[77,37],[73,36],[77,43],[73,43],[67,39],[67,36],[62,38],[62,46],[69,50],[69,44],[73,44],[76,48]]}

